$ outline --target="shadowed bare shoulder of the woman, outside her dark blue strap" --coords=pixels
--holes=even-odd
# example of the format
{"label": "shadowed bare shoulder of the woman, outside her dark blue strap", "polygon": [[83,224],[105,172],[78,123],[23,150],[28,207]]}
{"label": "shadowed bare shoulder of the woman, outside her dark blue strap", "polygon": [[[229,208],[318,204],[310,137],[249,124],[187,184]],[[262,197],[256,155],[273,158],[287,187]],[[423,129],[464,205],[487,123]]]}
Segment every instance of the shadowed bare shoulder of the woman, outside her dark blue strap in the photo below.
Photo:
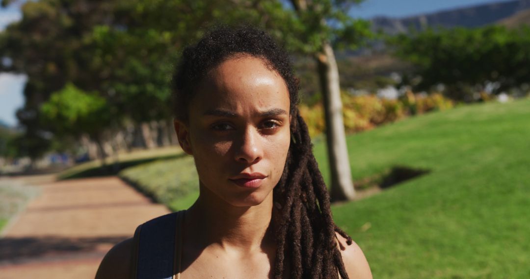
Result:
{"label": "shadowed bare shoulder of the woman, outside her dark blue strap", "polygon": [[128,238],[114,245],[101,261],[96,279],[130,278],[133,238]]}

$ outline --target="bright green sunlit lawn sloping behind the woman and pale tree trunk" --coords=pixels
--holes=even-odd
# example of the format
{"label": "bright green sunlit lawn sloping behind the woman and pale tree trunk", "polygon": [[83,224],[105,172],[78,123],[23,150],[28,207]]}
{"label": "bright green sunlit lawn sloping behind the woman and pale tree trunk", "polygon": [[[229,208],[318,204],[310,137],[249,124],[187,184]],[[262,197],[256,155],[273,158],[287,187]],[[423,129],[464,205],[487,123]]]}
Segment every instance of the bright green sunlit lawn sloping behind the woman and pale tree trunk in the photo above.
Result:
{"label": "bright green sunlit lawn sloping behind the woman and pale tree trunk", "polygon": [[[530,99],[412,117],[350,135],[348,148],[355,180],[395,166],[429,170],[333,206],[374,278],[530,278]],[[327,180],[324,142],[314,152]],[[120,175],[176,210],[197,197],[190,173],[184,157]],[[163,198],[162,188],[185,194]]]}

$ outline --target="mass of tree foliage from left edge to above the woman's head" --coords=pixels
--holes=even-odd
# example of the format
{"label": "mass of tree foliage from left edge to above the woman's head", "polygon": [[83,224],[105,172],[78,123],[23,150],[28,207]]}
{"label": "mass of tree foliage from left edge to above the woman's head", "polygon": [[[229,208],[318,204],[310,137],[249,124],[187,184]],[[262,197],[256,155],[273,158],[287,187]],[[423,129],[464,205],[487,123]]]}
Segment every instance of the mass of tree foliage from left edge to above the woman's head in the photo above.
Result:
{"label": "mass of tree foliage from left edge to above the woman's head", "polygon": [[[24,149],[33,157],[45,152],[50,131],[75,137],[82,131],[101,133],[128,120],[171,118],[170,82],[179,53],[216,24],[259,25],[289,50],[311,55],[321,51],[323,43],[356,47],[369,34],[366,21],[347,14],[359,0],[311,1],[303,8],[298,5],[302,2],[291,1],[291,7],[277,0],[25,2],[22,20],[0,35],[0,53],[13,61],[0,70],[28,76],[25,105],[17,114],[25,127]],[[82,94],[83,102],[96,106],[83,111],[83,105],[68,105],[65,93],[65,100],[55,99],[40,109],[68,83],[84,92],[98,92],[107,108]],[[71,111],[59,113],[52,105]],[[85,113],[97,116],[94,122],[99,125]]]}

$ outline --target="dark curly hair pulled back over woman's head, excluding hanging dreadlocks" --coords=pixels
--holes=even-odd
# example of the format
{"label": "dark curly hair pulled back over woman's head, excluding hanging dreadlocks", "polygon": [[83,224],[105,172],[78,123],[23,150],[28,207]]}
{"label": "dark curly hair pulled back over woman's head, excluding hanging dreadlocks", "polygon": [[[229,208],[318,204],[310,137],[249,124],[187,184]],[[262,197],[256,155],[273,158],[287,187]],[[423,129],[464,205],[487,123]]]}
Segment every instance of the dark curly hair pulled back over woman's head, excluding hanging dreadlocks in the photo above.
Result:
{"label": "dark curly hair pulled back over woman's head, excluding hanging dreadlocks", "polygon": [[188,105],[201,79],[220,63],[242,54],[263,59],[271,70],[280,74],[289,90],[290,114],[294,115],[298,104],[298,79],[294,76],[287,52],[264,31],[252,27],[218,27],[182,53],[182,60],[173,76],[175,117],[188,120]]}

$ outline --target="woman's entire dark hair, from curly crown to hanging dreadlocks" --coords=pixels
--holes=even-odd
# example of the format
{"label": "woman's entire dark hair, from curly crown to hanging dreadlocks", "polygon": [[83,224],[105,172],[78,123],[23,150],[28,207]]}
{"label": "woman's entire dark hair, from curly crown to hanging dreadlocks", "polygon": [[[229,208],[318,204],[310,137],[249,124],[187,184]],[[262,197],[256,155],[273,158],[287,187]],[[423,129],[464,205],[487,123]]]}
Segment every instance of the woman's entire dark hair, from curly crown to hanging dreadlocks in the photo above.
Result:
{"label": "woman's entire dark hair, from curly crown to hanging dreadlocks", "polygon": [[[348,278],[337,248],[335,231],[351,238],[332,219],[330,198],[312,152],[311,138],[298,113],[298,80],[287,52],[262,30],[253,27],[220,27],[184,50],[173,77],[175,117],[188,120],[188,104],[196,86],[223,61],[251,55],[277,71],[289,90],[291,144],[284,172],[273,190],[278,215],[275,277],[284,277],[288,265],[291,278]],[[276,217],[274,217],[276,216]]]}

